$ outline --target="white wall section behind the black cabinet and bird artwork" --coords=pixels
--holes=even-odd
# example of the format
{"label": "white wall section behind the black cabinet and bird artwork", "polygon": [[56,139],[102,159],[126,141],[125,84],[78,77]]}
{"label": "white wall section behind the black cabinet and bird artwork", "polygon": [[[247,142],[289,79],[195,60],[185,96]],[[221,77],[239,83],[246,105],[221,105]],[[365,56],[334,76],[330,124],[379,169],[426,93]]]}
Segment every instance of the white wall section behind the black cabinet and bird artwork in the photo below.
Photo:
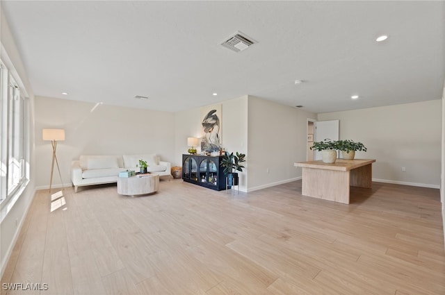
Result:
{"label": "white wall section behind the black cabinet and bird artwork", "polygon": [[[211,103],[211,105],[216,103]],[[240,186],[242,192],[248,187],[248,96],[223,101],[221,108],[221,144],[227,151],[238,151],[246,154],[246,169],[239,172]],[[200,108],[184,110],[175,114],[176,130],[176,153],[175,165],[182,166],[182,154],[187,153],[187,137],[201,137],[202,132]],[[198,146],[197,152],[200,153]]]}

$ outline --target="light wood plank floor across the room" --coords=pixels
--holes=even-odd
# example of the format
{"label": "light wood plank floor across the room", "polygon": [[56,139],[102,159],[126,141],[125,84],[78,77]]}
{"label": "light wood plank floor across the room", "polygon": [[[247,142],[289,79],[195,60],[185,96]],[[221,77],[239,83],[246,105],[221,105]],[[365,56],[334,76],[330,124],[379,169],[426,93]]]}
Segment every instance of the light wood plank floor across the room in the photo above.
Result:
{"label": "light wood plank floor across the room", "polygon": [[[373,183],[351,204],[301,181],[232,196],[182,180],[35,196],[1,283],[40,294],[445,294],[438,189]],[[60,208],[57,208],[61,205]],[[38,291],[2,294],[39,294]]]}

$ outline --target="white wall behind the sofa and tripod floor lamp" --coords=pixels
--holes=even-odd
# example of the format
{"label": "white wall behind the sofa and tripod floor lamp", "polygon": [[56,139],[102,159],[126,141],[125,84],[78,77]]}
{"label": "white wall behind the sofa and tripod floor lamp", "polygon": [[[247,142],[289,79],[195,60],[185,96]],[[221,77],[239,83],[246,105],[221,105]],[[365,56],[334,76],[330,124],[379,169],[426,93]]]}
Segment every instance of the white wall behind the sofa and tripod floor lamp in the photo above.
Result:
{"label": "white wall behind the sofa and tripod floor lamp", "polygon": [[[36,185],[49,187],[51,143],[42,140],[42,128],[65,129],[65,141],[57,144],[63,183],[71,185],[71,161],[79,155],[156,153],[175,160],[175,114],[136,108],[35,97]],[[57,171],[55,187],[60,186]]]}

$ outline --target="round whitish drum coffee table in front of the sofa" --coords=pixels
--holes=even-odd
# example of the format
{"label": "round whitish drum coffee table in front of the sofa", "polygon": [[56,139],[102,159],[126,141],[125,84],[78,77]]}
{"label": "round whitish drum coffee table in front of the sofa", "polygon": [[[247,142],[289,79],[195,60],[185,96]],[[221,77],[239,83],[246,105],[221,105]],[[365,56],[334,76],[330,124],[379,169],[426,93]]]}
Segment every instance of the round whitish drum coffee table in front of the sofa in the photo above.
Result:
{"label": "round whitish drum coffee table in front of the sofa", "polygon": [[118,194],[137,196],[151,194],[159,189],[159,174],[144,176],[118,177]]}

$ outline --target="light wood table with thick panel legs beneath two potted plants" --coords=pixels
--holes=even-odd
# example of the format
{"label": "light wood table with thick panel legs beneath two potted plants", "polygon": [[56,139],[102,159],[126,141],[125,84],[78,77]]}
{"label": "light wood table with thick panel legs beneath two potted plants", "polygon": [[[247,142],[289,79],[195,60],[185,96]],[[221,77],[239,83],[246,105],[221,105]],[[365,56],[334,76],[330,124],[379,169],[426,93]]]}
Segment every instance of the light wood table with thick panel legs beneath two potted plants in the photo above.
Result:
{"label": "light wood table with thick panel legs beneath two potted plants", "polygon": [[374,159],[298,162],[302,167],[302,194],[327,201],[349,204],[350,185],[371,188]]}

